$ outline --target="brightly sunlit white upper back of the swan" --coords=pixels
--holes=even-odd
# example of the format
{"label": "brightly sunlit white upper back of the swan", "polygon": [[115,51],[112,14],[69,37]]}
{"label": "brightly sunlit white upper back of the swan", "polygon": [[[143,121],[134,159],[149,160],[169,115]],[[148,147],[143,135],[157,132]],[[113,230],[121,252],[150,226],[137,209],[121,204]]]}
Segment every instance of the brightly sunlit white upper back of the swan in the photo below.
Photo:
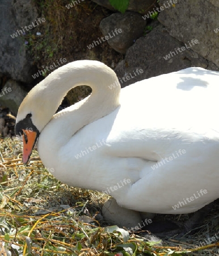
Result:
{"label": "brightly sunlit white upper back of the swan", "polygon": [[[138,112],[153,127],[218,126],[218,81],[219,72],[203,68],[153,77],[122,89],[121,109]],[[135,121],[138,117],[137,113],[133,116]]]}

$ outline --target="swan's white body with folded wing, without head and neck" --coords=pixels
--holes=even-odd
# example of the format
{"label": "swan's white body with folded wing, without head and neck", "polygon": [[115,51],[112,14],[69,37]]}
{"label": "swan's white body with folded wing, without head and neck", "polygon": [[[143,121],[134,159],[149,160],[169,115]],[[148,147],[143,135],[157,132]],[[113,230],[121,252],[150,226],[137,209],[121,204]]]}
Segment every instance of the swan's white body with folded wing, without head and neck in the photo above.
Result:
{"label": "swan's white body with folded wing, without head and neck", "polygon": [[[157,213],[200,209],[219,196],[218,78],[218,72],[188,68],[121,89],[121,105],[78,130],[58,156],[50,153],[47,167],[56,166],[54,174],[64,183],[98,191],[130,179],[111,191],[125,208]],[[44,131],[41,141],[49,133]],[[48,154],[45,143],[40,148]],[[179,150],[185,153],[176,155]],[[177,157],[156,167],[172,154]],[[208,193],[172,208],[200,189]]]}

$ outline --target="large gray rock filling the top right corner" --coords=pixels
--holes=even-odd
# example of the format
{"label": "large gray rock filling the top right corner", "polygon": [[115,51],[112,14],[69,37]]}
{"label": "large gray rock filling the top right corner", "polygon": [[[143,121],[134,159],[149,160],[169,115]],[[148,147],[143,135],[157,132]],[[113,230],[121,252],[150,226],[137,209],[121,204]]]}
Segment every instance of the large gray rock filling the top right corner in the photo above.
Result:
{"label": "large gray rock filling the top right corner", "polygon": [[[161,0],[159,4],[165,2]],[[218,13],[217,0],[178,0],[175,7],[161,11],[158,20],[179,41],[189,43],[198,40],[199,44],[192,46],[192,51],[219,67],[219,31],[214,31],[219,28]]]}

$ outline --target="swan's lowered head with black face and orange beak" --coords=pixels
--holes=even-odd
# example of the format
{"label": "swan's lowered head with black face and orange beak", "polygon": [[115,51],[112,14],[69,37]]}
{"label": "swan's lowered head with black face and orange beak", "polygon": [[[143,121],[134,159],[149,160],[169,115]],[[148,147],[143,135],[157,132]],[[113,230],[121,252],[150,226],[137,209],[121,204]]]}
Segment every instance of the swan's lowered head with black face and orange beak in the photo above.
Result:
{"label": "swan's lowered head with black face and orange beak", "polygon": [[[46,90],[44,90],[44,79],[40,86],[36,85],[24,98],[20,104],[16,117],[15,134],[23,137],[23,163],[30,159],[32,149],[35,146],[40,132],[52,118],[54,112],[60,104],[56,100],[49,100]],[[51,94],[51,93],[50,93]]]}

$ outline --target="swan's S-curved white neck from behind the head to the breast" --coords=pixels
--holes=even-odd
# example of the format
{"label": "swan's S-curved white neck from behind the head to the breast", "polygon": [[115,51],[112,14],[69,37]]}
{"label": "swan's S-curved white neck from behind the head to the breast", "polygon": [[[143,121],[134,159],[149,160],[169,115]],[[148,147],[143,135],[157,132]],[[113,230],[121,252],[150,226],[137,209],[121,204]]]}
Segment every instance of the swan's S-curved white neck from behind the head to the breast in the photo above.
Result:
{"label": "swan's S-curved white neck from behind the head to the breast", "polygon": [[[116,85],[115,88],[111,88],[112,84]],[[78,85],[90,86],[91,95],[53,115],[66,93]],[[112,113],[120,105],[120,85],[115,72],[98,61],[75,61],[49,75],[36,86],[32,96],[35,99],[31,100],[35,104],[38,102],[36,111],[32,113],[32,121],[35,123],[37,118],[37,124],[41,123],[37,146],[41,160],[45,167],[54,169],[53,175],[57,179],[65,183],[68,183],[71,169],[76,176],[75,184],[83,186],[81,177],[85,177],[77,174],[77,170],[84,159],[75,160],[74,155],[89,143],[87,140],[95,137],[96,131],[91,130],[86,138],[78,137],[76,133],[89,123]],[[71,163],[71,166],[64,168],[62,163]],[[56,172],[56,168],[62,171]]]}

